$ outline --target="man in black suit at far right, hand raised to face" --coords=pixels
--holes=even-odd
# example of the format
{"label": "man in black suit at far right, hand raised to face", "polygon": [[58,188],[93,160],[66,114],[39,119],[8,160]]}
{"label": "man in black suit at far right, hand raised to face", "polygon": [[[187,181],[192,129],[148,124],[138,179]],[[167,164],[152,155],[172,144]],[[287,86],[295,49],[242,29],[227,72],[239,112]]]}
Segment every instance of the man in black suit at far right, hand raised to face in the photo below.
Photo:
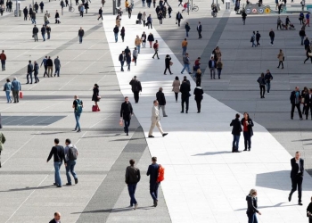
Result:
{"label": "man in black suit at far right, hand raised to face", "polygon": [[304,161],[300,158],[300,152],[297,151],[294,158],[291,159],[291,194],[288,196],[288,201],[291,202],[291,195],[297,190],[298,186],[298,204],[301,203],[302,180],[304,173]]}

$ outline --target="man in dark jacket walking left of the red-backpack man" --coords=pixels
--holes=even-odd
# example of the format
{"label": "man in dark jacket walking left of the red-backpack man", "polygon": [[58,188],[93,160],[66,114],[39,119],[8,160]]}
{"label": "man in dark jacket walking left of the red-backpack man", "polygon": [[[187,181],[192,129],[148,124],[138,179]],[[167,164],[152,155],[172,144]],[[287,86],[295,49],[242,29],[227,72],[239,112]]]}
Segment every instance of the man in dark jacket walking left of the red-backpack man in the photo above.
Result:
{"label": "man in dark jacket walking left of the red-backpack man", "polygon": [[[145,1],[142,1],[145,2]],[[145,4],[145,3],[144,3]],[[127,166],[126,169],[126,179],[125,182],[127,184],[127,191],[130,196],[130,207],[132,208],[133,205],[135,205],[135,208],[137,208],[137,202],[135,200],[135,189],[137,183],[141,179],[140,169],[135,168],[135,160],[129,161],[130,166]]]}

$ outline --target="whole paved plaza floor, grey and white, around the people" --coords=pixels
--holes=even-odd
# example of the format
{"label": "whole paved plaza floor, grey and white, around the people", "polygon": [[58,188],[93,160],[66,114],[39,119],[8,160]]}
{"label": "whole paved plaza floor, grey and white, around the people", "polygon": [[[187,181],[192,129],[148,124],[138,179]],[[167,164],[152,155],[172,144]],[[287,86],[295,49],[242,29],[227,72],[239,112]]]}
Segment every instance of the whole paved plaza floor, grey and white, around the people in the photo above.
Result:
{"label": "whole paved plaza floor, grey and white, around the people", "polygon": [[[51,39],[45,42],[31,38],[30,21],[16,18],[12,13],[0,17],[0,49],[7,56],[5,78],[17,77],[22,83],[24,98],[20,103],[6,103],[0,97],[0,111],[7,142],[2,153],[0,169],[0,222],[48,222],[53,212],[60,211],[62,222],[246,222],[245,195],[250,188],[259,191],[259,222],[307,222],[306,205],[312,195],[312,178],[306,174],[303,183],[303,206],[297,205],[297,193],[291,202],[290,159],[300,151],[305,168],[311,169],[311,120],[299,120],[298,113],[290,120],[289,96],[295,86],[300,89],[312,82],[312,64],[303,64],[304,48],[300,45],[298,15],[290,19],[296,30],[277,31],[276,15],[247,17],[246,25],[234,12],[222,9],[218,18],[211,18],[209,4],[194,1],[199,12],[183,13],[181,27],[175,16],[164,19],[160,25],[154,9],[142,9],[135,2],[131,19],[127,12],[122,16],[126,37],[122,43],[114,42],[112,29],[116,16],[111,15],[111,2],[103,9],[103,22],[96,21],[100,3],[92,1],[84,18],[75,12],[61,15],[61,24],[50,19]],[[21,7],[30,1],[21,1]],[[299,4],[299,3],[297,3]],[[123,3],[122,3],[123,5]],[[223,6],[223,5],[222,5]],[[45,2],[45,10],[61,11],[59,1]],[[153,29],[135,25],[138,11],[151,13]],[[284,21],[286,15],[283,14]],[[180,113],[180,103],[175,103],[171,84],[182,75],[181,42],[185,38],[185,22],[191,25],[188,53],[191,61],[201,56],[205,70],[213,48],[222,52],[224,69],[221,79],[210,80],[205,70],[202,87],[205,92],[201,113],[196,113],[193,96],[188,114]],[[198,39],[196,25],[201,21],[202,39]],[[37,26],[43,23],[43,14],[37,13]],[[78,44],[78,29],[85,29],[83,44]],[[275,45],[269,44],[268,31],[275,30]],[[253,30],[261,34],[260,46],[251,48]],[[137,66],[131,71],[120,72],[118,56],[128,45],[134,48],[135,36],[152,32],[160,42],[160,60],[152,60],[148,44],[141,49]],[[311,36],[310,28],[306,30]],[[276,69],[279,49],[285,54],[283,70]],[[174,75],[163,75],[164,58],[170,54]],[[43,78],[26,85],[26,67],[31,60],[41,63],[45,55],[60,57],[61,77]],[[260,72],[271,70],[274,80],[270,94],[259,97],[256,82]],[[127,69],[125,69],[127,70]],[[140,102],[135,104],[128,82],[133,76],[142,81]],[[94,83],[100,86],[101,111],[92,112],[91,101]],[[154,129],[155,138],[146,139],[150,127],[152,101],[159,87],[164,88],[168,104],[167,118],[161,125],[168,136],[161,137]],[[75,120],[71,108],[73,95],[84,102],[80,133],[72,132]],[[135,116],[131,120],[129,136],[119,127],[119,109],[124,95],[130,96]],[[180,100],[179,100],[180,101]],[[230,153],[232,135],[229,123],[236,112],[248,111],[254,120],[255,135],[250,153]],[[161,112],[161,111],[160,111]],[[53,139],[66,138],[77,145],[79,156],[76,170],[77,186],[53,186],[53,161],[46,158],[53,146]],[[242,150],[241,139],[240,148]],[[166,168],[161,183],[160,203],[152,207],[146,170],[151,156],[157,156]],[[128,160],[135,159],[141,169],[142,179],[137,186],[139,208],[129,205],[127,186],[124,182]],[[66,177],[62,165],[62,184]]]}

